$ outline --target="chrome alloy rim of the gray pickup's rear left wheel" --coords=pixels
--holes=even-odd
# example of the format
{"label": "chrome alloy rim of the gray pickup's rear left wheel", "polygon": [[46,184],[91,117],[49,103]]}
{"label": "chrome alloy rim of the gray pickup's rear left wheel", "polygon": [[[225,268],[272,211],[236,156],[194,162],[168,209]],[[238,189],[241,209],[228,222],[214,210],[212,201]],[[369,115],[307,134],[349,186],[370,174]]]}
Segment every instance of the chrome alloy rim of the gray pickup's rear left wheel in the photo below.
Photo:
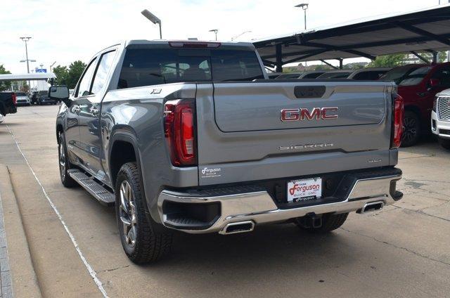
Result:
{"label": "chrome alloy rim of the gray pickup's rear left wheel", "polygon": [[120,221],[124,232],[124,240],[130,247],[136,244],[136,205],[134,203],[134,195],[128,181],[122,181],[120,184]]}

